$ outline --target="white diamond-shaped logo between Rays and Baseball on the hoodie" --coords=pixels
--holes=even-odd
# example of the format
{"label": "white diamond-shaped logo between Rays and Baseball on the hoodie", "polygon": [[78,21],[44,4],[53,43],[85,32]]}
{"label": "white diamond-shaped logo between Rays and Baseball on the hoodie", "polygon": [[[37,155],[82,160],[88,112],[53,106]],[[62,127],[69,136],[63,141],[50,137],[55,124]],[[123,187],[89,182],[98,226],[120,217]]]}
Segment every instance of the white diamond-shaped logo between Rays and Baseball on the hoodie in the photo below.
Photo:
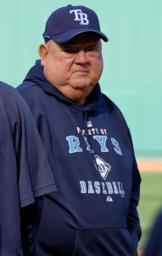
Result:
{"label": "white diamond-shaped logo between Rays and Baseball on the hoodie", "polygon": [[96,168],[100,176],[105,180],[111,170],[111,166],[109,165],[109,163],[105,162],[97,154],[95,155],[95,160],[96,160]]}

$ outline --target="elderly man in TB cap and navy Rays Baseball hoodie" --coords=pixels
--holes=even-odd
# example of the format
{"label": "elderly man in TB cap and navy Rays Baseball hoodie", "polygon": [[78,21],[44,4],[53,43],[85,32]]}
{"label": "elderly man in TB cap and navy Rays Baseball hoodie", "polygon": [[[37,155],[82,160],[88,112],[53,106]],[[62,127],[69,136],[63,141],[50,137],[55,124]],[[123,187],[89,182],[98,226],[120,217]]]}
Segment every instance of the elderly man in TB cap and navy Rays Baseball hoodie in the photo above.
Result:
{"label": "elderly man in TB cap and navy Rays Baseball hoodie", "polygon": [[36,120],[57,192],[43,197],[33,255],[137,255],[141,177],[131,134],[101,93],[98,16],[84,6],[49,16],[41,61],[18,91]]}

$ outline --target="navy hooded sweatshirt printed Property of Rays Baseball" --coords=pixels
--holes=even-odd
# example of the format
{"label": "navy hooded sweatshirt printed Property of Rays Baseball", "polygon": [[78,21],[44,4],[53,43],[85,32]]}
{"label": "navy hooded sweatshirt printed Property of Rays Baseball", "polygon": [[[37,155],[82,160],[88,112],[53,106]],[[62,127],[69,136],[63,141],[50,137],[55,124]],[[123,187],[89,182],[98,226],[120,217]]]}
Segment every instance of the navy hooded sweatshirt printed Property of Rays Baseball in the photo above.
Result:
{"label": "navy hooded sweatshirt printed Property of Rays Baseball", "polygon": [[130,131],[97,84],[85,104],[43,75],[40,61],[18,87],[36,120],[57,192],[44,196],[34,255],[137,255],[141,177]]}

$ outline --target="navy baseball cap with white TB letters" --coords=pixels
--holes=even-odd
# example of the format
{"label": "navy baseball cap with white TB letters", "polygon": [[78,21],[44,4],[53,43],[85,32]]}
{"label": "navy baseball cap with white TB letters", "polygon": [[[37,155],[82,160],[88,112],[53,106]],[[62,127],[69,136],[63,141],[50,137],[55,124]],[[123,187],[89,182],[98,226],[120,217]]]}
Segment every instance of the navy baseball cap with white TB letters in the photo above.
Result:
{"label": "navy baseball cap with white TB letters", "polygon": [[104,42],[109,39],[100,31],[98,15],[85,6],[67,5],[53,12],[47,19],[45,32],[46,40],[53,39],[56,43],[64,44],[82,32],[95,32]]}

